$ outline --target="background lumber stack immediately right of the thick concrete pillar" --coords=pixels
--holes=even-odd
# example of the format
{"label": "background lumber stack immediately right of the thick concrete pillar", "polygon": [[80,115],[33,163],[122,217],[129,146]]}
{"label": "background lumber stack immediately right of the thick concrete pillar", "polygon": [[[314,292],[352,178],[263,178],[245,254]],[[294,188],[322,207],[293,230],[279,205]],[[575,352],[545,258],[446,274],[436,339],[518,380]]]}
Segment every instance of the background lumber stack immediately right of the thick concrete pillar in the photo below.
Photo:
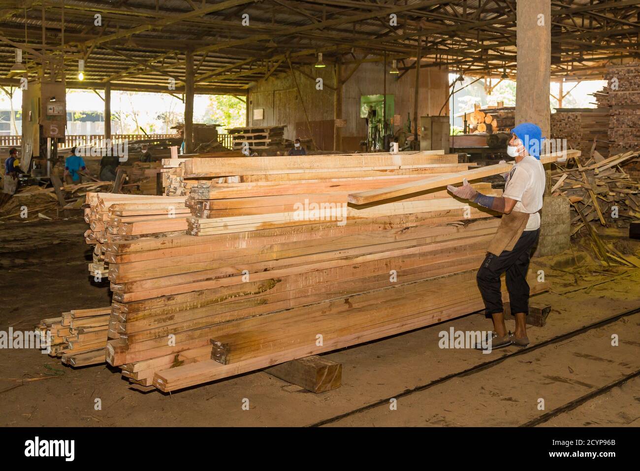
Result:
{"label": "background lumber stack immediately right of the thick concrete pillar", "polygon": [[556,108],[551,115],[551,138],[566,139],[570,149],[578,149],[589,155],[595,149],[604,157],[609,156],[608,108]]}

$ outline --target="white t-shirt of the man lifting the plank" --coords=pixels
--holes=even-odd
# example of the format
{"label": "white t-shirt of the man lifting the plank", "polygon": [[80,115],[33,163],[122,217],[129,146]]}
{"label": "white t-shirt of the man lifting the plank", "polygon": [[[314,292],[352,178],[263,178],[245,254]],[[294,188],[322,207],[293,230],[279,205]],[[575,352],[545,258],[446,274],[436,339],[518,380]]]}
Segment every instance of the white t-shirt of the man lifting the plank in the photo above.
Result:
{"label": "white t-shirt of the man lifting the plank", "polygon": [[513,165],[509,172],[503,197],[515,199],[514,211],[529,213],[525,231],[535,231],[540,227],[540,209],[545,194],[545,169],[540,160],[530,155]]}

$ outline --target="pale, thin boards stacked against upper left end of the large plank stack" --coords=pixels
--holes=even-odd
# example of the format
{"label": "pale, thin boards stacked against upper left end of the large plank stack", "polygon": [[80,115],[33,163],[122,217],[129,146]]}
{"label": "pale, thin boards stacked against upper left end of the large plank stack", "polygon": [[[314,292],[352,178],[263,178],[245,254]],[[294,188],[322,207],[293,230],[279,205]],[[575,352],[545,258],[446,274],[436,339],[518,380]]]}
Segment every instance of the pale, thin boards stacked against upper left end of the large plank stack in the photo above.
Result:
{"label": "pale, thin boards stacked against upper left end of the large plank stack", "polygon": [[181,233],[187,227],[188,215],[183,197],[88,193],[84,220],[89,229],[84,240],[93,245],[90,274],[96,279],[108,276],[104,251],[109,241]]}

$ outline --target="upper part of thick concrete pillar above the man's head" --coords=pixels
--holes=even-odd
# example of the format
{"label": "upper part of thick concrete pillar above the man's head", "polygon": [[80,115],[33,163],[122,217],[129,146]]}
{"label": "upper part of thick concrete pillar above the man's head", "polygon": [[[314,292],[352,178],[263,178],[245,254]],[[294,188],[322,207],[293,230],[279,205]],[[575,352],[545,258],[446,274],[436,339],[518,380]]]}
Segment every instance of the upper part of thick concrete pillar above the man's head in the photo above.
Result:
{"label": "upper part of thick concrete pillar above the man's head", "polygon": [[516,3],[516,124],[533,122],[550,137],[551,0]]}

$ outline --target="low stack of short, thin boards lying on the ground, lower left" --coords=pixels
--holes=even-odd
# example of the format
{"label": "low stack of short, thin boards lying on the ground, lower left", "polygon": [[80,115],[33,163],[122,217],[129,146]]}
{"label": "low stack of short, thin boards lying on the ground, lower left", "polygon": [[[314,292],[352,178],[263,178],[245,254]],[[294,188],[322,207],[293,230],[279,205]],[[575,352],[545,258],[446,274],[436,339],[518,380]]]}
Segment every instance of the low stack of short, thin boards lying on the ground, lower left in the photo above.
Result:
{"label": "low stack of short, thin boards lying on the ground, lower left", "polygon": [[72,367],[97,365],[105,361],[111,306],[64,312],[45,318],[36,326],[42,344],[49,339],[49,356]]}

